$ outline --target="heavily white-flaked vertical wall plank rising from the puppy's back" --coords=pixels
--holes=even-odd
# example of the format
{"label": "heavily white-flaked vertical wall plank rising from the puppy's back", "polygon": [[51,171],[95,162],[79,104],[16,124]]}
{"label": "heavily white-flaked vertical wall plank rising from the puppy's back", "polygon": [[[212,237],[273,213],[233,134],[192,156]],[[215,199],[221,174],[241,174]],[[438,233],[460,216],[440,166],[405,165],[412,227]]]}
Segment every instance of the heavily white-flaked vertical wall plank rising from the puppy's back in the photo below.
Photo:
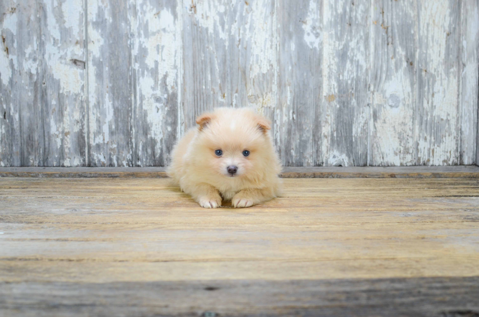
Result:
{"label": "heavily white-flaked vertical wall plank rising from the puppy's back", "polygon": [[[176,141],[181,34],[175,0],[138,0],[133,47],[133,163],[165,166]],[[178,63],[179,61],[179,63]]]}

